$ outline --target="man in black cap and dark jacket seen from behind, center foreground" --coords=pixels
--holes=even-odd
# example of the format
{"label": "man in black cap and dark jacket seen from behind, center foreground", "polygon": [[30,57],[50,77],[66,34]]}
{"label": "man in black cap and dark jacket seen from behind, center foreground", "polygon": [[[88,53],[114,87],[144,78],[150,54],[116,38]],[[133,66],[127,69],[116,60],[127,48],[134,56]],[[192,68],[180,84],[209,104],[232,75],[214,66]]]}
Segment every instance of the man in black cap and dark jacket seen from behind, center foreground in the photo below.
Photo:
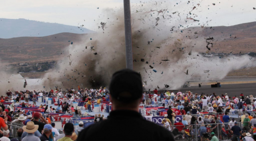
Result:
{"label": "man in black cap and dark jacket seen from behind, center foreground", "polygon": [[[112,111],[107,120],[92,124],[78,135],[82,140],[174,140],[173,134],[139,113],[143,100],[141,75],[130,69],[113,74],[110,86]],[[101,133],[101,135],[99,135]]]}

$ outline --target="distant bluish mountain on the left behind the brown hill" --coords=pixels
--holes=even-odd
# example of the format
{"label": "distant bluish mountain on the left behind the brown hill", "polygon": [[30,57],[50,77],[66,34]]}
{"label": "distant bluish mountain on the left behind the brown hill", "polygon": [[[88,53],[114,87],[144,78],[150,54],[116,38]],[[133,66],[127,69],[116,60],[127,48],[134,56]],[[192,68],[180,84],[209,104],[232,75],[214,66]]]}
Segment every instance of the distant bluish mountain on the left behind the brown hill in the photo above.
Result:
{"label": "distant bluish mountain on the left behind the brown hill", "polygon": [[0,18],[0,38],[14,37],[43,37],[53,34],[69,32],[76,34],[92,33],[92,31],[75,26],[67,26],[58,23],[41,22],[27,19]]}

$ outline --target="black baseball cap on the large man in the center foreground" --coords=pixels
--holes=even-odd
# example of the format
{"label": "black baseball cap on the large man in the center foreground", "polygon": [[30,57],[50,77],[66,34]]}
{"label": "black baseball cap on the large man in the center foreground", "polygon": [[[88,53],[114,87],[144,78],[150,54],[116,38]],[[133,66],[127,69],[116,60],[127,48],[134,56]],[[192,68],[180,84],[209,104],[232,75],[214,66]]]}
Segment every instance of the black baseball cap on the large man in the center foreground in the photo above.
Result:
{"label": "black baseball cap on the large man in the center foreground", "polygon": [[109,91],[112,98],[121,102],[140,99],[143,93],[141,75],[131,69],[119,70],[112,76]]}

